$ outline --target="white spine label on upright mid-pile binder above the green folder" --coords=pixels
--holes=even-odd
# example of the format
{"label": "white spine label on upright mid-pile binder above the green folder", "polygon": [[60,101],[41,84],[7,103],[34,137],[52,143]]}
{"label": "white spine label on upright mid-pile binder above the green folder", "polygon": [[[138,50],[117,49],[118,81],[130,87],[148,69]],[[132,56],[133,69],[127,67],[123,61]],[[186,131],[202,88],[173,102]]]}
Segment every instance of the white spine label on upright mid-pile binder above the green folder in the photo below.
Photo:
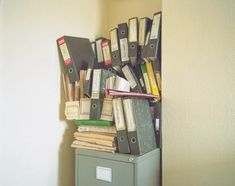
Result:
{"label": "white spine label on upright mid-pile binder above the green folder", "polygon": [[93,99],[99,99],[100,92],[100,81],[101,81],[101,70],[94,70],[93,81],[92,81],[92,93]]}

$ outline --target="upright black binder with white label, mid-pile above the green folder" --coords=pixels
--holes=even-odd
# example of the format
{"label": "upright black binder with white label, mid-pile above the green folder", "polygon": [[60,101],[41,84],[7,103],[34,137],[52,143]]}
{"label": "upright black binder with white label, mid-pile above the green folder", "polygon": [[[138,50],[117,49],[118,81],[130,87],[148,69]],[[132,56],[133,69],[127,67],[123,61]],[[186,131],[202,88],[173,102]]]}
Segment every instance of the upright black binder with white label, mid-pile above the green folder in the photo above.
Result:
{"label": "upright black binder with white label, mid-pile above the green folder", "polygon": [[92,78],[90,119],[100,119],[106,78],[111,73],[105,69],[94,69]]}

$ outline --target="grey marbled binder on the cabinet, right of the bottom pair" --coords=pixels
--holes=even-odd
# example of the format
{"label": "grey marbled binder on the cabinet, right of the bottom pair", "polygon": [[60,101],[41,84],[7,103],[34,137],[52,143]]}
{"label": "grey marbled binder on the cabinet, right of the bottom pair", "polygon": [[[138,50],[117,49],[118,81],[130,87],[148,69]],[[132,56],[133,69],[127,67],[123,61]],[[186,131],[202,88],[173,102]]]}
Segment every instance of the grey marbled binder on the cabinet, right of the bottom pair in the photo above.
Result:
{"label": "grey marbled binder on the cabinet, right of the bottom pair", "polygon": [[146,99],[123,99],[128,139],[133,155],[143,155],[156,148],[156,138]]}

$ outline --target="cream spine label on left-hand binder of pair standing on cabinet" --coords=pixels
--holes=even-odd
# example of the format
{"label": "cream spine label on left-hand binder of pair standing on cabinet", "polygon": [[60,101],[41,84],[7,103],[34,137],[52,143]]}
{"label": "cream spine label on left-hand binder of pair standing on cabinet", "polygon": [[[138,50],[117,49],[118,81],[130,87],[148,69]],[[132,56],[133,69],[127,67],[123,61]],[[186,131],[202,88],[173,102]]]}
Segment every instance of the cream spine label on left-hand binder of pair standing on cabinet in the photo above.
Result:
{"label": "cream spine label on left-hand binder of pair standing on cabinet", "polygon": [[117,131],[125,130],[122,100],[120,98],[113,99],[113,112]]}

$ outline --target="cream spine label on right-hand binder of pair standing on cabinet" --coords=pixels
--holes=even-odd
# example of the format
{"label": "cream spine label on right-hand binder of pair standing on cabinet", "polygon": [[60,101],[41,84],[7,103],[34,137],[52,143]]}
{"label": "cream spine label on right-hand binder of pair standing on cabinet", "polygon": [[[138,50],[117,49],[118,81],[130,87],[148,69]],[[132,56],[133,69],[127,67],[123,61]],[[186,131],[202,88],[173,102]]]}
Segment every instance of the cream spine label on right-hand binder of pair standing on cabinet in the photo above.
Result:
{"label": "cream spine label on right-hand binder of pair standing on cabinet", "polygon": [[128,116],[126,117],[126,124],[127,124],[127,131],[128,132],[133,132],[136,131],[136,126],[135,126],[135,120],[133,117],[133,107],[131,105],[131,100],[126,99],[123,100],[123,105],[124,105],[124,110],[125,110],[125,115]]}

